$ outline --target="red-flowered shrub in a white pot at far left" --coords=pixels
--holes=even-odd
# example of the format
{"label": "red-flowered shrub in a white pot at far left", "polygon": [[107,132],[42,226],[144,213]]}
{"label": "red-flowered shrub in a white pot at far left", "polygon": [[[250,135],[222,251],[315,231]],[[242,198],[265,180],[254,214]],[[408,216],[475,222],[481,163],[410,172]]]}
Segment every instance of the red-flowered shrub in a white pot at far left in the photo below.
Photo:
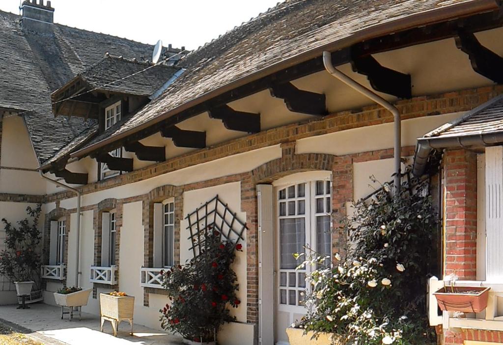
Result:
{"label": "red-flowered shrub in a white pot at far left", "polygon": [[[29,296],[35,281],[40,281],[41,241],[38,220],[41,205],[28,206],[26,211],[32,220],[25,218],[15,227],[5,218],[6,249],[0,252],[0,275],[6,276],[16,285],[18,296]],[[35,281],[34,281],[35,280]]]}

